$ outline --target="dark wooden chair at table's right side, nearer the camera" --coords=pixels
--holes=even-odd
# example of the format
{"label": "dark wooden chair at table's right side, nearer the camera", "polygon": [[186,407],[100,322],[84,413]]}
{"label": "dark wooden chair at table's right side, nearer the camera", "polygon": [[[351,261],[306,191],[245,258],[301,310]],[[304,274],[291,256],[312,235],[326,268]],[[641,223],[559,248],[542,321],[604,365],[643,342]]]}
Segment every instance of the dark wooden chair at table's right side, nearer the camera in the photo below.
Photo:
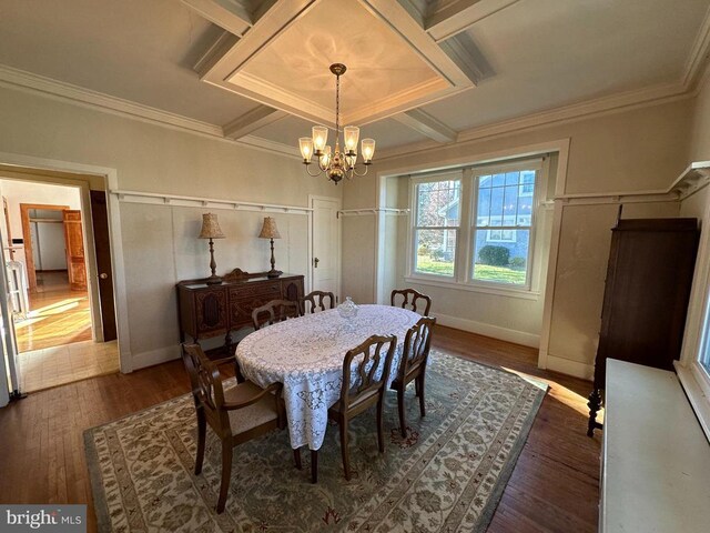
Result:
{"label": "dark wooden chair at table's right side, nearer the camera", "polygon": [[[328,409],[328,419],[341,426],[341,452],[345,479],[351,479],[351,464],[347,449],[348,426],[351,419],[377,405],[377,444],[379,453],[385,451],[385,439],[382,425],[382,411],[385,386],[389,378],[389,368],[397,348],[395,335],[373,335],[365,342],[348,350],[343,360],[343,386],[341,399]],[[362,361],[359,358],[362,356]],[[357,359],[353,368],[353,360]],[[383,366],[384,364],[384,366]],[[312,457],[314,454],[312,453]],[[317,481],[317,452],[312,461],[312,481]]]}

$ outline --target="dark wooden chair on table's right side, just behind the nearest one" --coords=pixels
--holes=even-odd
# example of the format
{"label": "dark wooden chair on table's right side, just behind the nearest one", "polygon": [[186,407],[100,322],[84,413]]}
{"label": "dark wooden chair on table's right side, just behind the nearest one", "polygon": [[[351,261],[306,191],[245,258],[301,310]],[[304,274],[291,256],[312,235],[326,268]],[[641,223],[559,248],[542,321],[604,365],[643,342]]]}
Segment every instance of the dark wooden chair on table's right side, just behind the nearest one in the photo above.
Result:
{"label": "dark wooden chair on table's right side, just behind the nearest one", "polygon": [[407,331],[404,338],[404,349],[397,374],[389,385],[389,389],[397,391],[397,409],[399,411],[399,428],[403,439],[407,436],[407,424],[404,410],[404,393],[407,384],[415,382],[416,394],[419,396],[419,414],[424,416],[426,410],[424,406],[424,384],[426,380],[426,363],[429,358],[432,348],[432,334],[434,332],[436,319],[429,316],[420,318]]}

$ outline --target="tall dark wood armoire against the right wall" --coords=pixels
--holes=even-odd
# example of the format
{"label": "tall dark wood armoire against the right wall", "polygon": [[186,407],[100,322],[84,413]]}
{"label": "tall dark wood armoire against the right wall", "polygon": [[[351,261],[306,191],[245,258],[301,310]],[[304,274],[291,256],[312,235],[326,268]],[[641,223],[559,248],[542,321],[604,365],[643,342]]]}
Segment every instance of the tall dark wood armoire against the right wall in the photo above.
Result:
{"label": "tall dark wood armoire against the right wall", "polygon": [[621,219],[611,231],[589,436],[601,428],[596,419],[608,358],[673,370],[700,235],[697,219]]}

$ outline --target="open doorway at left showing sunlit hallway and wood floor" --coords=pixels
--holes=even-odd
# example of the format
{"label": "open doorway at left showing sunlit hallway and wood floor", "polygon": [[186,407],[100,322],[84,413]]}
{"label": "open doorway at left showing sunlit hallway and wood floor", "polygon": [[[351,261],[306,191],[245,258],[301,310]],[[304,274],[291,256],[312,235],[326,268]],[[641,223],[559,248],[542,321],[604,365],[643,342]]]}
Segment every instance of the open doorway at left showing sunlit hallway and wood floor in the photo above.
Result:
{"label": "open doorway at left showing sunlit hallway and wood floor", "polygon": [[[119,371],[116,342],[94,342],[90,210],[81,188],[0,173],[9,301],[23,392]],[[93,224],[95,225],[95,224]],[[90,228],[91,229],[91,228]],[[89,231],[93,235],[93,231]],[[94,301],[92,301],[94,300]]]}

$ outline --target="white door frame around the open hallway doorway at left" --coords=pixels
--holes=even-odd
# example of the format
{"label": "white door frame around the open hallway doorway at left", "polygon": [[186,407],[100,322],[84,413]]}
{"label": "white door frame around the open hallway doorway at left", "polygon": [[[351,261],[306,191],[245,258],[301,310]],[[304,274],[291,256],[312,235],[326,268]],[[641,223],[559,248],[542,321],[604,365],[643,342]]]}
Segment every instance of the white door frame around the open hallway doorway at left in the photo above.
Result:
{"label": "white door frame around the open hallway doorway at left", "polygon": [[[119,208],[119,198],[112,194],[111,191],[118,190],[119,178],[116,169],[109,167],[98,167],[93,164],[83,164],[72,161],[61,161],[55,159],[37,158],[33,155],[24,155],[18,153],[0,152],[0,163],[26,167],[38,170],[50,170],[60,172],[71,172],[75,174],[91,174],[92,177],[103,178],[104,189],[106,192],[106,210],[109,213],[109,241],[111,243],[111,266],[113,268],[113,293],[115,302],[115,321],[116,321],[116,334],[119,343],[119,358],[121,372],[128,373],[133,371],[133,360],[131,356],[131,341],[129,333],[128,321],[128,301],[126,301],[126,284],[125,284],[125,269],[123,268],[123,241],[121,239],[121,218]],[[37,180],[34,180],[37,181]],[[79,180],[57,178],[55,183],[73,182],[75,184]],[[48,180],[48,183],[51,182]],[[91,197],[89,187],[89,177],[87,180],[79,181],[81,187],[81,208],[82,212],[91,213]],[[89,217],[87,217],[89,220]],[[84,230],[87,227],[84,225]],[[91,232],[84,232],[84,235],[91,234],[91,250],[93,250],[93,229]],[[87,239],[87,237],[85,237]],[[93,262],[93,271],[98,272],[95,266],[95,253],[91,254],[91,262]],[[93,301],[97,302],[98,309],[98,280],[95,275],[91,276],[90,285]],[[100,322],[99,322],[100,323]]]}

